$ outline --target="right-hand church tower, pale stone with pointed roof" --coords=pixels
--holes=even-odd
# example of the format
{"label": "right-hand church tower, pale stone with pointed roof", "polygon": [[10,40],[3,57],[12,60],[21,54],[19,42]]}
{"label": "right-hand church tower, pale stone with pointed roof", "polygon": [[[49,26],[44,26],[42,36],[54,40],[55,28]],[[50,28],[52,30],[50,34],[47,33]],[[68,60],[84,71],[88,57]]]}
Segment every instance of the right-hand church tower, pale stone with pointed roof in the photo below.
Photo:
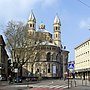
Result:
{"label": "right-hand church tower, pale stone with pointed roof", "polygon": [[56,15],[54,19],[54,43],[61,48],[61,31],[60,31],[61,22],[59,17]]}

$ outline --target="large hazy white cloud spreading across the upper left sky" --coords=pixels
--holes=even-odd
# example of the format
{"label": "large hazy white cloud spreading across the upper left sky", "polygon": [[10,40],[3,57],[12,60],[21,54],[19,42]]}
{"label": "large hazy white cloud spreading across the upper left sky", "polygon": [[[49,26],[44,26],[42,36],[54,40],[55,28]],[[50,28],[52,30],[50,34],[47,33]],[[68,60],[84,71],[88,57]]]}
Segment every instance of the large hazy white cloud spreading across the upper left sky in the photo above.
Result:
{"label": "large hazy white cloud spreading across the upper left sky", "polygon": [[0,20],[26,15],[38,5],[39,8],[53,7],[58,0],[0,0]]}

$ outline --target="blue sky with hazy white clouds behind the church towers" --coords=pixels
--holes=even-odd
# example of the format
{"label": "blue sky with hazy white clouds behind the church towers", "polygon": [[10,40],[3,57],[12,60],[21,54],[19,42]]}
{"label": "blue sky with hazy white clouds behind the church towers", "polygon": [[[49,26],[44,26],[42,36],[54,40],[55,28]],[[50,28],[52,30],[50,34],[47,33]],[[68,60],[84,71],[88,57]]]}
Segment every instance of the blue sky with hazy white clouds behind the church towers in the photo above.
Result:
{"label": "blue sky with hazy white clouds behind the church towers", "polygon": [[[81,0],[90,6],[90,0]],[[0,26],[8,21],[27,22],[31,9],[38,25],[43,22],[53,34],[53,21],[58,13],[61,20],[62,45],[70,51],[69,60],[74,60],[74,48],[90,38],[90,7],[78,0],[0,0]],[[3,34],[0,29],[0,34]]]}

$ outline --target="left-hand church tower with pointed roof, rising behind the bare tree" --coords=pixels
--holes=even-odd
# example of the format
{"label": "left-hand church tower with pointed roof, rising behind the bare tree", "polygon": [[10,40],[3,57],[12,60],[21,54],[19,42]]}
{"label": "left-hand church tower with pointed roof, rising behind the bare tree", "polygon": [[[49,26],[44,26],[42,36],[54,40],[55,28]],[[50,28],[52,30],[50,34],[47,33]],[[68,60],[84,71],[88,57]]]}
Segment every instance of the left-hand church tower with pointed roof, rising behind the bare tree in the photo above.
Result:
{"label": "left-hand church tower with pointed roof, rising behind the bare tree", "polygon": [[31,11],[29,19],[28,19],[28,32],[29,35],[35,36],[36,31],[36,18],[33,14],[33,11]]}

